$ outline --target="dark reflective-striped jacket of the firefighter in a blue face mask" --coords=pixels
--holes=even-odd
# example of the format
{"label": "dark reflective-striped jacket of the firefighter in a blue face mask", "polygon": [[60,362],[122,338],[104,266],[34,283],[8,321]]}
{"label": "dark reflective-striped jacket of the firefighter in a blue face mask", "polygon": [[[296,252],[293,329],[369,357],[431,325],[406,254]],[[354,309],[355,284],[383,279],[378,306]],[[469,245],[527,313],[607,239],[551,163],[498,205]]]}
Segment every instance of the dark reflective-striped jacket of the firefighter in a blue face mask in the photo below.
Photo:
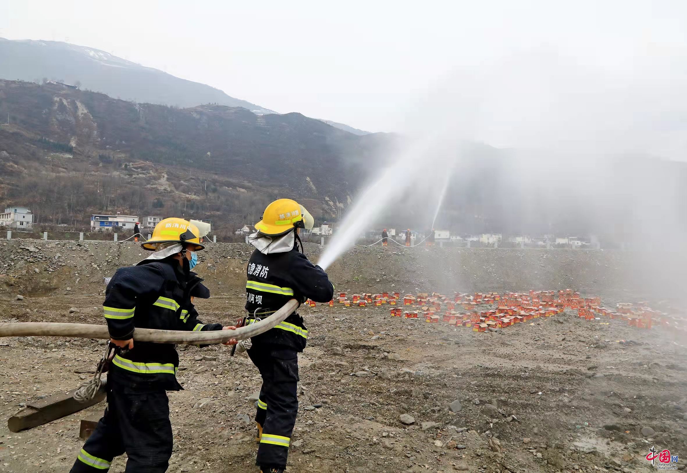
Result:
{"label": "dark reflective-striped jacket of the firefighter in a blue face mask", "polygon": [[[111,338],[128,340],[134,328],[163,330],[221,330],[204,325],[191,296],[210,297],[195,273],[184,274],[174,259],[122,267],[107,285],[102,305]],[[109,384],[128,391],[179,391],[176,372],[179,354],[173,344],[134,342],[110,363]],[[119,386],[117,386],[117,384]]]}

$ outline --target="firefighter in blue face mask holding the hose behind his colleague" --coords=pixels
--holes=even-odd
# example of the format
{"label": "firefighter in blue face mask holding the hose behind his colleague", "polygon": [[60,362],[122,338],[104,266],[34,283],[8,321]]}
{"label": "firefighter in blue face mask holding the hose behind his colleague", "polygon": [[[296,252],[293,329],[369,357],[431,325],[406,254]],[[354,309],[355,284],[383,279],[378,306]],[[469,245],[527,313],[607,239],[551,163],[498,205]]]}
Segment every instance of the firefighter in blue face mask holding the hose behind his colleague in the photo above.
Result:
{"label": "firefighter in blue face mask holding the hose behind his colleague", "polygon": [[[115,345],[109,364],[107,408],[80,450],[71,472],[102,472],[126,452],[126,471],[165,472],[172,454],[172,426],[165,391],[179,391],[179,355],[172,344],[136,342],[136,327],[165,330],[222,330],[203,324],[192,296],[210,297],[191,272],[202,222],[164,219],[141,246],[152,252],[135,266],[122,267],[107,285],[104,317]],[[232,340],[233,343],[236,343]]]}

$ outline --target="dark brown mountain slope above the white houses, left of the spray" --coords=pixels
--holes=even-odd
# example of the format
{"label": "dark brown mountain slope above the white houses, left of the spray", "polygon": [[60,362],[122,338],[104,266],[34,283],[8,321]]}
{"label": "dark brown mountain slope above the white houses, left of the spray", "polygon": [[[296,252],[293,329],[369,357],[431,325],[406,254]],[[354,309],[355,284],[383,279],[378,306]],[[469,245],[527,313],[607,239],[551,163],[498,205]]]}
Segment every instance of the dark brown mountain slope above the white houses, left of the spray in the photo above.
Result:
{"label": "dark brown mountain slope above the white houses, left of the spray", "polygon": [[348,204],[362,184],[359,169],[374,170],[386,142],[300,113],[177,109],[0,80],[0,115],[8,114],[10,125],[0,126],[3,203],[22,201],[44,222],[186,212],[237,228],[284,196],[327,219]]}

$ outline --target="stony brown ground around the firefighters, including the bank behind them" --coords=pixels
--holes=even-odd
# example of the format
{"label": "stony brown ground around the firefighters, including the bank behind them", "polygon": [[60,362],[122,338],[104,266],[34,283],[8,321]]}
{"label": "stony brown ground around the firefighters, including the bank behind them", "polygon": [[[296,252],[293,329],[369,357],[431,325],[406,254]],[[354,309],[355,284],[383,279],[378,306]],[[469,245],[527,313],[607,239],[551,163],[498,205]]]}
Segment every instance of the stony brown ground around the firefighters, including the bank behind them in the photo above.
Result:
{"label": "stony brown ground around the firefighters, including the bank behind them", "polygon": [[[318,251],[306,245],[315,261]],[[3,242],[0,321],[102,323],[102,278],[139,253],[127,243]],[[246,245],[205,253],[199,272],[214,295],[199,303],[203,320],[239,317],[248,255]],[[648,298],[677,310],[679,297],[631,274],[637,261],[582,250],[355,248],[330,274],[350,292],[572,287],[605,305]],[[300,356],[289,471],[649,472],[652,445],[687,451],[684,333],[572,311],[487,333],[391,318],[387,306],[300,313],[311,337]],[[87,375],[74,371],[92,369],[101,353],[95,340],[0,340],[0,418],[30,397],[76,387]],[[256,471],[255,408],[246,398],[260,386],[258,372],[225,347],[180,356],[185,389],[170,393],[169,471]],[[82,445],[80,419],[103,408],[17,433],[3,420],[0,472],[69,470]],[[111,471],[124,465],[116,459]]]}

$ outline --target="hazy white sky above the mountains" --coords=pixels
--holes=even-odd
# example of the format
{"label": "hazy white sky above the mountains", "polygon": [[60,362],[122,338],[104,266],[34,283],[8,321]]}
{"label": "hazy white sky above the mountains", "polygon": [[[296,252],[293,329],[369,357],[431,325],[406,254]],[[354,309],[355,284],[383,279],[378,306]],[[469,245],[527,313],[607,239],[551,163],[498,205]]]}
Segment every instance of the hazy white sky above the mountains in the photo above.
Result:
{"label": "hazy white sky above the mountains", "polygon": [[95,47],[280,113],[684,159],[682,0],[0,3],[5,38]]}

